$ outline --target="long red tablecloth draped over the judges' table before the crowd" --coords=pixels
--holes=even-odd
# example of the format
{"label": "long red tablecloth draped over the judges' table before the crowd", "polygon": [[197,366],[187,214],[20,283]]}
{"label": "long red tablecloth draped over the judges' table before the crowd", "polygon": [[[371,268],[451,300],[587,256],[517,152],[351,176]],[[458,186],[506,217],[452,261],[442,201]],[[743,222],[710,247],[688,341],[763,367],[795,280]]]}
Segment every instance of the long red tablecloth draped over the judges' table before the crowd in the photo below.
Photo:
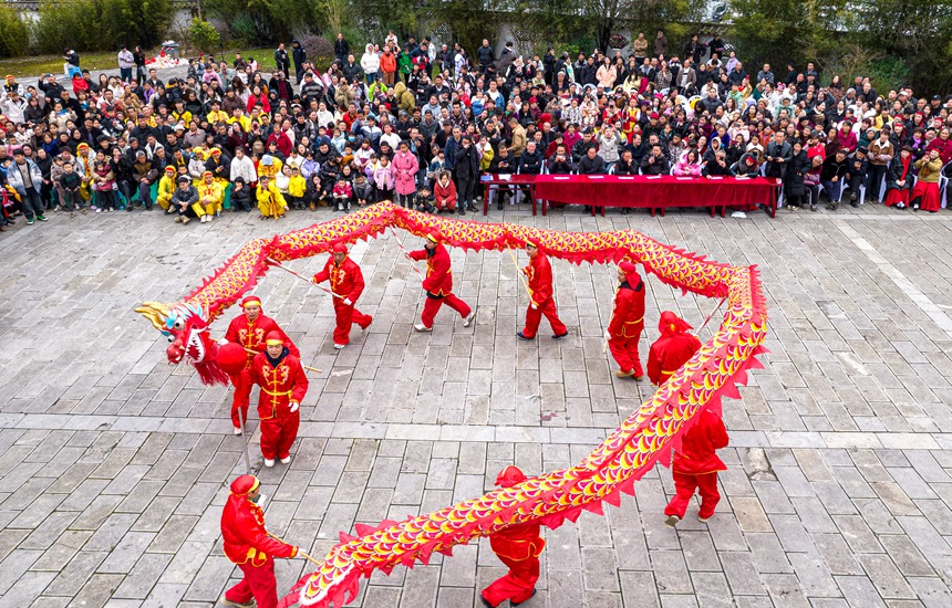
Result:
{"label": "long red tablecloth draped over the judges' table before the crowd", "polygon": [[[674,176],[553,176],[536,178],[536,197],[544,201],[598,207],[752,207],[777,208],[777,180],[681,178]],[[545,203],[542,203],[545,206]],[[542,208],[545,212],[545,207]]]}

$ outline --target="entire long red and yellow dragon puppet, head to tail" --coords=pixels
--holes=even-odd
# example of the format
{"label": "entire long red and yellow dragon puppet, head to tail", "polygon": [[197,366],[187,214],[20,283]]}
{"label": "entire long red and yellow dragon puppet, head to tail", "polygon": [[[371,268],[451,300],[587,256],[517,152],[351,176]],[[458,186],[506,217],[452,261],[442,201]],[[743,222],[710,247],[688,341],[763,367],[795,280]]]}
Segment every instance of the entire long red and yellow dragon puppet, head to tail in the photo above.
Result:
{"label": "entire long red and yellow dragon puppet, head to tail", "polygon": [[374,569],[389,574],[399,565],[412,567],[417,559],[428,563],[434,552],[451,555],[455,545],[514,524],[538,520],[555,528],[566,520],[575,522],[583,510],[600,514],[602,501],[617,506],[621,493],[633,494],[634,482],[655,462],[669,463],[671,450],[680,447],[683,431],[703,408],[720,408],[722,397],[739,397],[736,385],[746,384],[747,369],[759,367],[756,356],[766,353],[767,313],[755,268],[705,260],[632,230],[558,232],[466,222],[390,203],[272,239],[256,239],[183,302],[146,303],[136,311],[169,336],[170,363],[188,360],[204,381],[225,381],[220,370],[216,373],[217,346],[208,339],[208,326],[255,286],[268,271],[269,259],[284,262],[317,255],[338,242],[374,238],[387,228],[417,235],[435,232],[449,245],[475,251],[521,248],[531,237],[547,254],[572,263],[628,258],[685,293],[726,297],[728,308],[717,332],[691,360],[579,464],[403,522],[385,521],[377,527],[358,524],[358,536],[341,533],[340,544],[317,572],[298,583],[283,606],[298,601],[320,608],[343,606],[356,597],[360,578]]}

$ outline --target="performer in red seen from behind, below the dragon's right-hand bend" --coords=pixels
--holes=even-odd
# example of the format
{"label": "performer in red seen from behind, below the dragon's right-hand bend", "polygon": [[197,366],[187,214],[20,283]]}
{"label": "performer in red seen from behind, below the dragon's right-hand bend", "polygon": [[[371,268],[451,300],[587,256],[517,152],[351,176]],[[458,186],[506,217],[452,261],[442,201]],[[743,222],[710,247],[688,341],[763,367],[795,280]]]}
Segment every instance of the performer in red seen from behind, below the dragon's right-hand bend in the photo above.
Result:
{"label": "performer in red seen from behind, below the dragon's right-hand bend", "polygon": [[714,515],[714,509],[721,500],[717,492],[717,471],[726,471],[727,467],[717,458],[717,450],[726,448],[729,438],[724,421],[710,408],[704,408],[697,415],[697,421],[684,433],[681,449],[674,452],[671,462],[671,475],[674,478],[674,497],[664,507],[670,526],[677,525],[684,518],[687,503],[696,490],[701,494],[701,511],[697,518],[706,522]]}

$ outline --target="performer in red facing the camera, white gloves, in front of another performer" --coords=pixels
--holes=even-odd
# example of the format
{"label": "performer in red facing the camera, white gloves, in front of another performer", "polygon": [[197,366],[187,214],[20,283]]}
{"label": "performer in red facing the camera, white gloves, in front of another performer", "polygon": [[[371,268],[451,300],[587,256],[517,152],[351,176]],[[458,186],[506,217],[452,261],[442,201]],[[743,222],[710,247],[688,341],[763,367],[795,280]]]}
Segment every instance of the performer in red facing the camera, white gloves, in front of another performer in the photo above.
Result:
{"label": "performer in red facing the camera, white gloves, in front of another performer", "polygon": [[261,419],[261,454],[265,467],[291,462],[291,445],[298,437],[301,422],[301,399],[308,392],[308,377],[296,355],[284,346],[280,332],[271,332],[265,339],[265,352],[251,360],[251,381],[261,387],[258,397],[258,417]]}

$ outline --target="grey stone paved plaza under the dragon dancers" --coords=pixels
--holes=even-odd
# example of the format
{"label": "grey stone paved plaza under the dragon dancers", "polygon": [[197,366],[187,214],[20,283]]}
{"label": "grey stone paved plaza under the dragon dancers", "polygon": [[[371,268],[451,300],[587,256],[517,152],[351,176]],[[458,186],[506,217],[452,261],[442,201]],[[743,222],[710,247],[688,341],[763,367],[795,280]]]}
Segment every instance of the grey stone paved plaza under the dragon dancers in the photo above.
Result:
{"label": "grey stone paved plaza under the dragon dancers", "polygon": [[[167,342],[133,307],[180,300],[255,237],[330,217],[226,213],[180,227],[156,212],[51,213],[0,234],[0,606],[211,607],[234,584],[219,516],[245,464],[229,391],[168,366]],[[673,485],[655,469],[606,517],[544,531],[527,608],[952,605],[952,216],[867,206],[776,220],[532,218],[507,207],[504,219],[630,227],[758,264],[770,314],[766,369],[742,400],[725,401],[731,470],[714,518],[699,522],[695,503],[676,531],[665,526]],[[476,496],[505,464],[568,467],[646,396],[614,378],[601,350],[604,266],[553,261],[571,336],[552,340],[544,323],[539,340],[520,343],[526,296],[508,254],[453,251],[456,292],[479,315],[464,328],[444,311],[432,335],[412,331],[420,283],[394,238],[353,256],[368,280],[360,307],[375,322],[342,352],[325,293],[280,270],[256,290],[304,363],[324,370],[309,374],[291,464],[261,470],[257,432],[251,445],[269,527],[314,556],[355,522]],[[291,266],[310,274],[323,262]],[[716,306],[650,286],[643,353],[660,310],[699,327]],[[235,314],[215,323],[215,337]],[[279,562],[279,589],[306,567]],[[354,606],[469,608],[501,573],[488,543],[473,543],[374,575]]]}

